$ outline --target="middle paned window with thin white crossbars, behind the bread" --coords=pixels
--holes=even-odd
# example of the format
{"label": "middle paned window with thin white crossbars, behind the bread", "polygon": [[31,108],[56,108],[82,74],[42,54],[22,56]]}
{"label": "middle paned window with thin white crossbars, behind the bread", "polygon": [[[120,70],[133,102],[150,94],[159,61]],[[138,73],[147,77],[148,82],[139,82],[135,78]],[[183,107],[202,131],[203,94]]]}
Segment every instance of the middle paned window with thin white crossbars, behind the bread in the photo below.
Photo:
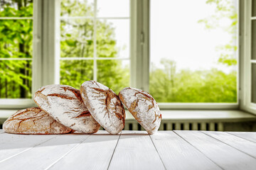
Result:
{"label": "middle paned window with thin white crossbars, behind the bread", "polygon": [[[110,5],[115,4],[115,5]],[[129,0],[61,1],[60,83],[129,86]]]}

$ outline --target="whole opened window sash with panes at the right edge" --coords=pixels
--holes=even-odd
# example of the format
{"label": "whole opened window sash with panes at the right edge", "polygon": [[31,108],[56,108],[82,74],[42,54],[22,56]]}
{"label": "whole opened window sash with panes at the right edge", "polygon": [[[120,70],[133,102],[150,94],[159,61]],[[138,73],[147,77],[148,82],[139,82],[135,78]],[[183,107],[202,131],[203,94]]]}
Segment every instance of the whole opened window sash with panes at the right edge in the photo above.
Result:
{"label": "whole opened window sash with panes at the right edge", "polygon": [[244,13],[241,16],[240,55],[242,56],[240,70],[241,84],[241,108],[251,113],[256,113],[256,1],[241,1]]}

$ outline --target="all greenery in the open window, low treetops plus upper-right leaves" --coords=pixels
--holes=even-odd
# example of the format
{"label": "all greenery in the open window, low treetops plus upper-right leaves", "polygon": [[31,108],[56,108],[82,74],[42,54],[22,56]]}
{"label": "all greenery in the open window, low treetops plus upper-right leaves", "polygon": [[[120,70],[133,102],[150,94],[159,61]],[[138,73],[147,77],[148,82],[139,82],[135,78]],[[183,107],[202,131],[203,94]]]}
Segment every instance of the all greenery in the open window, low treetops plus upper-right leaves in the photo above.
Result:
{"label": "all greenery in the open window, low treetops plus upper-right leaves", "polygon": [[[221,28],[233,36],[228,44],[216,47],[219,52],[219,64],[234,67],[237,64],[236,30],[238,15],[230,0],[208,0],[206,4],[215,6],[215,13],[203,18],[207,30]],[[229,26],[223,27],[220,21],[228,19]],[[176,71],[176,62],[162,60],[164,69],[152,66],[149,91],[158,102],[180,103],[234,103],[237,101],[237,72],[222,72],[218,69],[191,71],[182,69]]]}

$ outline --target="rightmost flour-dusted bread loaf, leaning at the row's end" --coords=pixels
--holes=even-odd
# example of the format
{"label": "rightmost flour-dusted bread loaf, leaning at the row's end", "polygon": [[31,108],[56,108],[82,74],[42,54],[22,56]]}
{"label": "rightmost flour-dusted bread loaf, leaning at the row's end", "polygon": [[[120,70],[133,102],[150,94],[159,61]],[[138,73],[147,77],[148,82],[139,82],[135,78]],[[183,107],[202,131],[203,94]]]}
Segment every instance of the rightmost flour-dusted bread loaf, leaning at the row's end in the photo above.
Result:
{"label": "rightmost flour-dusted bread loaf, leaning at the row's end", "polygon": [[161,113],[159,106],[149,93],[127,87],[122,89],[118,96],[146,132],[154,134],[159,129]]}

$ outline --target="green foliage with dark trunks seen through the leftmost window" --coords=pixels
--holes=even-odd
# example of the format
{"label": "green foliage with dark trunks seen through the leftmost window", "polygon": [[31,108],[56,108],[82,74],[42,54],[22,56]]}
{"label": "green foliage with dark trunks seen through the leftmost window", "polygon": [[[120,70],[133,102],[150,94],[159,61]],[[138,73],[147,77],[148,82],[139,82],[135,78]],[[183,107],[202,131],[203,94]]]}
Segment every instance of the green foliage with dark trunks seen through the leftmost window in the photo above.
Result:
{"label": "green foliage with dark trunks seen through the leftmost window", "polygon": [[[32,16],[33,4],[28,1],[1,2],[4,4],[0,16]],[[14,8],[17,4],[18,8]],[[33,21],[1,20],[0,22],[0,57],[32,58]],[[0,61],[0,98],[31,97],[31,61]]]}

